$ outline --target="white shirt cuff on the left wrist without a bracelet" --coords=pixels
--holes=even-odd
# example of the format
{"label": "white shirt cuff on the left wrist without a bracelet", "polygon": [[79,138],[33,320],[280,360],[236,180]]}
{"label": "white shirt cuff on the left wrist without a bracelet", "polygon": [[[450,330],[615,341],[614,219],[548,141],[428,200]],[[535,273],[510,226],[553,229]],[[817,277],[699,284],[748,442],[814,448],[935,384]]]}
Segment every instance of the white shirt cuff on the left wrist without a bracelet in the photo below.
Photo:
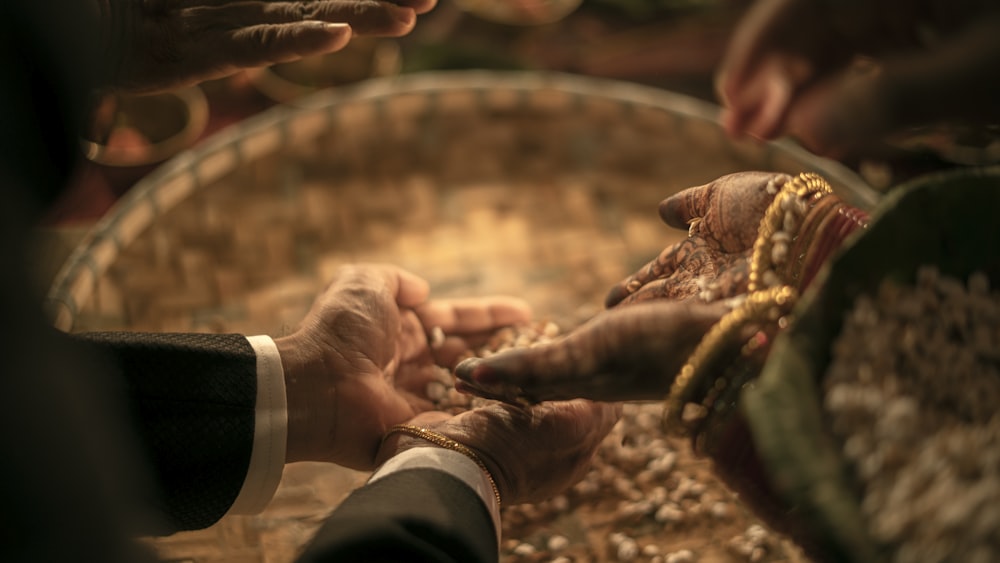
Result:
{"label": "white shirt cuff on the left wrist without a bracelet", "polygon": [[257,406],[253,450],[243,488],[229,507],[229,514],[256,514],[271,502],[281,482],[288,439],[285,372],[278,347],[270,336],[248,336],[257,355]]}

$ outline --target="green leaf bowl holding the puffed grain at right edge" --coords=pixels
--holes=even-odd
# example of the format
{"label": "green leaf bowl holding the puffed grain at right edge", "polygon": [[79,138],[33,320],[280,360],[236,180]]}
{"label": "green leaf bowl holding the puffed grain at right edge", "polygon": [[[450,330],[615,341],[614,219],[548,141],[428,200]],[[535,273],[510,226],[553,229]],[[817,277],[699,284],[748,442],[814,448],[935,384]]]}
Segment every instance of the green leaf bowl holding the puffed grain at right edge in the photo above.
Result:
{"label": "green leaf bowl holding the puffed grain at right edge", "polygon": [[974,271],[1000,280],[1000,167],[928,175],[880,202],[825,266],[774,343],[760,377],[741,396],[754,446],[790,518],[822,558],[880,561],[868,536],[860,484],[825,427],[820,388],[844,314],[886,278],[913,284],[921,265],[965,280]]}

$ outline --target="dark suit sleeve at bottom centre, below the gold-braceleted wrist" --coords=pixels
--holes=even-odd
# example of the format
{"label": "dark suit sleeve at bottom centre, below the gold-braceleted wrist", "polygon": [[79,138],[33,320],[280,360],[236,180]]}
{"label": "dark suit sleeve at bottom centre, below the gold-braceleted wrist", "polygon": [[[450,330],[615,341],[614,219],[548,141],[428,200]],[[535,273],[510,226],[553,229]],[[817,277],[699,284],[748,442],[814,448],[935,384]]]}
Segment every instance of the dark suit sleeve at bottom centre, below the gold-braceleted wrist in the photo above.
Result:
{"label": "dark suit sleeve at bottom centre, below the gold-braceleted wrist", "polygon": [[354,491],[299,563],[494,563],[493,520],[475,491],[434,469],[408,469]]}

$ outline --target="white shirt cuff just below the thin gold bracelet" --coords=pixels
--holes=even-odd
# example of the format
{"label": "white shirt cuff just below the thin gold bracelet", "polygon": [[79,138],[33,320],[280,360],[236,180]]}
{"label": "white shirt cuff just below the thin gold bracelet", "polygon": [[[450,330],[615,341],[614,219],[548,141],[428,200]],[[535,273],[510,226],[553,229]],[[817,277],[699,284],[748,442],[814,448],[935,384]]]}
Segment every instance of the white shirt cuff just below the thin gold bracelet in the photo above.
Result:
{"label": "white shirt cuff just below the thin gold bracelet", "polygon": [[493,530],[497,534],[497,545],[500,545],[500,506],[493,494],[493,487],[483,470],[464,454],[444,448],[413,448],[389,458],[368,479],[373,483],[386,475],[391,475],[404,469],[436,469],[459,479],[472,490],[486,505],[486,510],[493,519]]}

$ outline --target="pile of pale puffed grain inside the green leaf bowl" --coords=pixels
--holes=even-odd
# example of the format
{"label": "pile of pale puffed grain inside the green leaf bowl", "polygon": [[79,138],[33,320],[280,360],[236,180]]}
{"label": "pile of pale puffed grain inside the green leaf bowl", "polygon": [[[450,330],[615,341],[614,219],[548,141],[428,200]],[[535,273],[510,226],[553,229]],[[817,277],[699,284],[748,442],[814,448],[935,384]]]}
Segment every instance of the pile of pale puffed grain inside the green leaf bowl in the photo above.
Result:
{"label": "pile of pale puffed grain inside the green leaf bowl", "polygon": [[1000,292],[921,269],[845,320],[824,405],[898,562],[1000,560]]}

